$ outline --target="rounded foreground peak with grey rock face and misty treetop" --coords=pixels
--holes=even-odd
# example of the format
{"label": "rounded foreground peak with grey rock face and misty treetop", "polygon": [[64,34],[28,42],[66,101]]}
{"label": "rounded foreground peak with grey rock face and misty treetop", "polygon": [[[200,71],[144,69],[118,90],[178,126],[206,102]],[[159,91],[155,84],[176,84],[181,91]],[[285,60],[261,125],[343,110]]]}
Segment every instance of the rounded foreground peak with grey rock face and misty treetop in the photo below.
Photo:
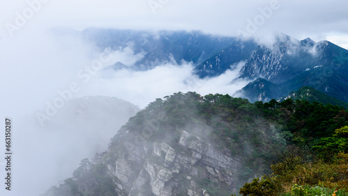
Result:
{"label": "rounded foreground peak with grey rock face and misty treetop", "polygon": [[181,92],[131,117],[46,195],[231,195],[269,172],[285,140],[246,99]]}

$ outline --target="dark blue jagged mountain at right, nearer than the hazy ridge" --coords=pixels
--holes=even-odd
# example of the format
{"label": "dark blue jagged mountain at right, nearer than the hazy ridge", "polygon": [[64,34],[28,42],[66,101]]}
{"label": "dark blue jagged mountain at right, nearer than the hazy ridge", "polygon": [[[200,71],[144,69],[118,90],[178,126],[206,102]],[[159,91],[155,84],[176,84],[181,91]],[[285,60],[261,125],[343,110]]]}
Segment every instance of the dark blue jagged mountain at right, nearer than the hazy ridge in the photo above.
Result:
{"label": "dark blue jagged mountain at right, nearer than the hazy ridge", "polygon": [[267,101],[310,86],[347,102],[348,51],[328,41],[286,38],[278,38],[272,49],[258,47],[254,51],[240,77],[255,81],[236,95],[245,95],[251,101]]}

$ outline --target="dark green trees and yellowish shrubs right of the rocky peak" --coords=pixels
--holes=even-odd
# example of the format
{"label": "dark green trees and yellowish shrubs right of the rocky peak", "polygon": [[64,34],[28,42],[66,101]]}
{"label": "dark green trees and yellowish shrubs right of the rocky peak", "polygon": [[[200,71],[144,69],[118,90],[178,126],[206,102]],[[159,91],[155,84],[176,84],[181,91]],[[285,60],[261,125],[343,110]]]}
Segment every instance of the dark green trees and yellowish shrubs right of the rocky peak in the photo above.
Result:
{"label": "dark green trees and yellowish shrubs right of the rocky peak", "polygon": [[348,113],[318,102],[256,102],[283,124],[287,152],[272,173],[245,183],[242,195],[348,195]]}

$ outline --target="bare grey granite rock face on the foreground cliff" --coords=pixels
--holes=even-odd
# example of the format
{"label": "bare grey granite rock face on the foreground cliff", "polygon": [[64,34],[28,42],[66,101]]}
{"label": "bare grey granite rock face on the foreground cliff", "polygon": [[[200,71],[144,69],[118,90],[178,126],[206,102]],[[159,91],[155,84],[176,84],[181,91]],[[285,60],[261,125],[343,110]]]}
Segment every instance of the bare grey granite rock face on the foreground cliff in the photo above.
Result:
{"label": "bare grey granite rock face on the foreground cliff", "polygon": [[176,142],[129,142],[107,163],[119,195],[206,196],[204,181],[235,190],[239,157],[188,131],[176,132]]}

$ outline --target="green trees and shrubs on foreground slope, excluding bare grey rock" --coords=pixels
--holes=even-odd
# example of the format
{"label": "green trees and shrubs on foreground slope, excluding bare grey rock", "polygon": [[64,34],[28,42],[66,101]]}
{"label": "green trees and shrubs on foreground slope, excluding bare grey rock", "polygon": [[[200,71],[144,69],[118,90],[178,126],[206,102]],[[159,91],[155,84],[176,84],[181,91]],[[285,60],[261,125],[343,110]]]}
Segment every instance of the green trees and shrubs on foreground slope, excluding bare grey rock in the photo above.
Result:
{"label": "green trees and shrubs on foreground slope, excluding bare grey rock", "polygon": [[131,117],[106,152],[93,161],[82,161],[72,178],[47,193],[115,195],[117,179],[106,165],[127,150],[131,134],[173,146],[180,137],[178,130],[185,130],[239,157],[239,183],[234,187],[226,189],[211,179],[199,183],[211,195],[219,193],[219,188],[243,195],[344,195],[348,193],[347,129],[347,111],[331,104],[299,99],[250,103],[229,95],[178,92],[156,99]]}

